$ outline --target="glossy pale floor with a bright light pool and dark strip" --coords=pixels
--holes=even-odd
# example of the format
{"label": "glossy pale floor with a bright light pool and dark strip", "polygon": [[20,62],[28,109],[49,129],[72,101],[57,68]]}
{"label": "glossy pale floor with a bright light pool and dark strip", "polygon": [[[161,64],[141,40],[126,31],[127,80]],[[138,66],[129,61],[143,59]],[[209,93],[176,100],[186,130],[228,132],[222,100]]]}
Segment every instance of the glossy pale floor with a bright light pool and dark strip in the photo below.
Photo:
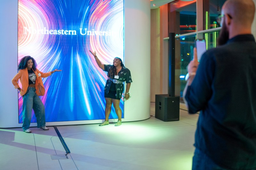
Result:
{"label": "glossy pale floor with a bright light pool and dark strip", "polygon": [[[155,115],[155,103],[151,103]],[[58,126],[70,150],[53,127],[0,129],[2,170],[189,170],[194,152],[198,114],[180,110],[180,121],[163,122],[151,116],[138,122]],[[47,123],[46,123],[47,124]]]}

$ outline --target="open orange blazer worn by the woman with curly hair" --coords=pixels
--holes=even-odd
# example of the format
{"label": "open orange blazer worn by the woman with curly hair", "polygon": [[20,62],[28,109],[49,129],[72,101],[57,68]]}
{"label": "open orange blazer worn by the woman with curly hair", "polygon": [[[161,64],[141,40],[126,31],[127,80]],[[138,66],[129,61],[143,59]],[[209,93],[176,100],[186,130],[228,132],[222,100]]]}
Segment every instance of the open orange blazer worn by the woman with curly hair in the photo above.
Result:
{"label": "open orange blazer worn by the woman with curly hair", "polygon": [[[32,69],[33,70],[33,69]],[[44,95],[44,84],[42,81],[42,78],[51,76],[52,73],[51,71],[47,72],[47,73],[43,73],[41,71],[39,71],[38,69],[33,70],[36,74],[36,94],[38,96],[43,96]],[[12,79],[12,84],[14,85],[14,88],[17,89],[20,86],[18,85],[18,80],[20,79],[20,83],[22,85],[22,89],[20,89],[20,95],[23,96],[27,90],[28,90],[28,69],[22,69],[19,70],[19,72],[14,76],[14,78]]]}

